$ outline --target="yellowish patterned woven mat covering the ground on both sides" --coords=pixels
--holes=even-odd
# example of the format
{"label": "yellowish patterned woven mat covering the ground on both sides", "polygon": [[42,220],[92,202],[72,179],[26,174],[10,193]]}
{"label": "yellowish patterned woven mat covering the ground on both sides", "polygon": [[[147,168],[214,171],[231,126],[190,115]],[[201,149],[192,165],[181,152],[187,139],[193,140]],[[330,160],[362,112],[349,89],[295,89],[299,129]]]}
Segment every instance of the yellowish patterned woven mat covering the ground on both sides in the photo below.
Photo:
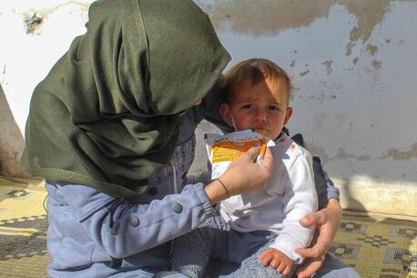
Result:
{"label": "yellowish patterned woven mat covering the ground on both sides", "polygon": [[[46,277],[45,199],[42,184],[0,177],[0,277]],[[417,221],[344,211],[330,252],[363,278],[417,278]]]}

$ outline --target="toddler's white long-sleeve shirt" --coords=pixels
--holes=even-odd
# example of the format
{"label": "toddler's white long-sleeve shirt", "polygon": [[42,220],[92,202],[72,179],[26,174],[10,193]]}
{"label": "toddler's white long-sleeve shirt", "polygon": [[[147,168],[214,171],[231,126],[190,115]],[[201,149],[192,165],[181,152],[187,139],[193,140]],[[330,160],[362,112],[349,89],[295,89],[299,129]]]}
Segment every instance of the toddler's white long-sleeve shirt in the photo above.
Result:
{"label": "toddler's white long-sleeve shirt", "polygon": [[275,144],[270,147],[274,169],[264,190],[221,201],[220,214],[235,231],[277,233],[270,247],[302,263],[294,250],[310,244],[313,229],[302,227],[299,221],[318,207],[311,155],[284,133]]}

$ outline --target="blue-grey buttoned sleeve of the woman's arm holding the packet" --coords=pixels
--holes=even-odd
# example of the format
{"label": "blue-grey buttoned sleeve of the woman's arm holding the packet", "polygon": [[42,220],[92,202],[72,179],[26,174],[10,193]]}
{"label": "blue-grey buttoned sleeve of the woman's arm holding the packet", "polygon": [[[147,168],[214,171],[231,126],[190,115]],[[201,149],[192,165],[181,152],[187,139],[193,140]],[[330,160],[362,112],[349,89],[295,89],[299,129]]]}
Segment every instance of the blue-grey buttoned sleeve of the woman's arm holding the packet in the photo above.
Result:
{"label": "blue-grey buttoned sleeve of the woman's arm holding the packet", "polygon": [[56,186],[86,232],[114,258],[145,251],[190,232],[214,211],[201,183],[149,204],[132,204],[86,185]]}

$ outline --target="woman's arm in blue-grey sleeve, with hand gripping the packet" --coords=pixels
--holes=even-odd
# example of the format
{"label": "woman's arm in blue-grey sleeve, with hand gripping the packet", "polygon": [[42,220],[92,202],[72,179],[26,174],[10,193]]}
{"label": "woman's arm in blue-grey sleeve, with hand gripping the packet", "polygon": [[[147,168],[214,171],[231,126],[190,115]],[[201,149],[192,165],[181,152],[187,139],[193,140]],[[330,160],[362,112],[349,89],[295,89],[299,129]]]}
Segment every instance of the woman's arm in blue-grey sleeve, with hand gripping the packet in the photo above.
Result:
{"label": "woman's arm in blue-grey sleeve, with hand gripping the packet", "polygon": [[198,228],[214,211],[213,204],[228,194],[261,188],[270,177],[272,157],[267,152],[258,165],[253,162],[257,154],[257,148],[249,149],[230,164],[220,177],[226,189],[219,180],[206,187],[189,184],[180,194],[149,204],[129,203],[80,184],[56,184],[57,194],[100,248],[114,258],[124,258]]}

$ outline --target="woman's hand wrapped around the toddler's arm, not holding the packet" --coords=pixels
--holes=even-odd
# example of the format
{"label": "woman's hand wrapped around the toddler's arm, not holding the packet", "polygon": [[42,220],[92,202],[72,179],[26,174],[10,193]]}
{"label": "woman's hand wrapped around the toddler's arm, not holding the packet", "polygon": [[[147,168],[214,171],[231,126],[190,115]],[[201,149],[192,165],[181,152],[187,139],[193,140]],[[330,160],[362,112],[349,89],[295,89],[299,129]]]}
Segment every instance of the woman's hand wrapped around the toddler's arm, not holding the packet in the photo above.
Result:
{"label": "woman's hand wrapped around the toddler's arm, not holding the packet", "polygon": [[316,226],[310,248],[298,248],[295,251],[308,259],[297,271],[297,277],[308,278],[320,269],[324,256],[339,229],[341,204],[331,199],[326,208],[308,214],[300,220],[300,224],[304,227]]}

